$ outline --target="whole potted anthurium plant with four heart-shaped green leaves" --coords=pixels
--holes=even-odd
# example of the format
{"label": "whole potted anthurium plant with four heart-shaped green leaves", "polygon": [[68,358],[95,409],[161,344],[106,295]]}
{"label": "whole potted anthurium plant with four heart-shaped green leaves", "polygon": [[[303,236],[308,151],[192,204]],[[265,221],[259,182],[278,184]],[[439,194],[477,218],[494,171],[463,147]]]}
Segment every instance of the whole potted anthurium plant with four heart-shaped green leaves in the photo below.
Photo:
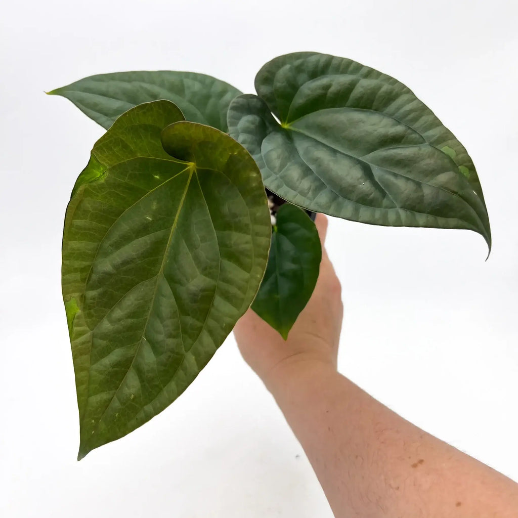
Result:
{"label": "whole potted anthurium plant with four heart-shaped green leaves", "polygon": [[404,84],[298,52],[255,89],[134,71],[49,92],[107,130],[63,233],[78,458],[170,405],[248,308],[287,337],[319,274],[312,213],[470,229],[491,248],[466,149]]}

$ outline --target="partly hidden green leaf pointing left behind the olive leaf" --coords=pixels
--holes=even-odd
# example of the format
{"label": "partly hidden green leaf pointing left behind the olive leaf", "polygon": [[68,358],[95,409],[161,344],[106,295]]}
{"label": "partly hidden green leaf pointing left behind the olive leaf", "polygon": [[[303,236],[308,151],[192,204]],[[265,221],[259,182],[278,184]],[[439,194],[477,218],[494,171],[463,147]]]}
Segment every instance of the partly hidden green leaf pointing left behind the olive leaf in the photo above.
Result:
{"label": "partly hidden green leaf pointing left behind the olive leaf", "polygon": [[134,106],[167,99],[182,110],[186,120],[207,124],[226,133],[228,105],[241,92],[205,74],[160,70],[99,74],[48,93],[70,99],[106,129]]}

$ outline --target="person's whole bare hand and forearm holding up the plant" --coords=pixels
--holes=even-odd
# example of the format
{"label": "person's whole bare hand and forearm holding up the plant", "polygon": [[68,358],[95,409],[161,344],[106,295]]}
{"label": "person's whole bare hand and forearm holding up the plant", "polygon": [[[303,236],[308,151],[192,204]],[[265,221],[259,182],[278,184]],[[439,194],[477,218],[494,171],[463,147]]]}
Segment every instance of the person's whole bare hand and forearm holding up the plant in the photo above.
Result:
{"label": "person's whole bare hand and forearm holding up the plant", "polygon": [[[322,244],[327,219],[316,218]],[[234,334],[303,446],[336,518],[518,518],[518,484],[402,419],[337,371],[343,306],[320,275],[286,341],[249,310]]]}

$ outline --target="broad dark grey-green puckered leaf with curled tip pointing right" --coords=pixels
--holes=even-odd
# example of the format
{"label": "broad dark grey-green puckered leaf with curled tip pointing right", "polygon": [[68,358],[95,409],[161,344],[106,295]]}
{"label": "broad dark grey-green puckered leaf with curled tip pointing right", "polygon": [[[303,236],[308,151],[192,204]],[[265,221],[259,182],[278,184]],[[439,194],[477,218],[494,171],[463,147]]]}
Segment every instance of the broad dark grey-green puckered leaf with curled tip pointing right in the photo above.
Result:
{"label": "broad dark grey-green puckered leaf with curled tip pointing right", "polygon": [[348,59],[300,52],[267,63],[255,88],[258,96],[231,103],[228,127],[268,189],[353,221],[471,229],[491,247],[467,151],[404,84]]}

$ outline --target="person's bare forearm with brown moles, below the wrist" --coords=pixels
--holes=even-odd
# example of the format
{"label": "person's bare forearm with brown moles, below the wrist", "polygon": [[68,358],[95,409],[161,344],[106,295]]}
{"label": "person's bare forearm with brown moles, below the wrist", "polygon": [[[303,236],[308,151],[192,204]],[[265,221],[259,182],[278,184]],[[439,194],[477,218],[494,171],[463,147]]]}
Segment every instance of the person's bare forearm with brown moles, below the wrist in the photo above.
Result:
{"label": "person's bare forearm with brown moles, below the wrist", "polygon": [[332,368],[267,383],[337,518],[518,517],[518,484],[384,407]]}

